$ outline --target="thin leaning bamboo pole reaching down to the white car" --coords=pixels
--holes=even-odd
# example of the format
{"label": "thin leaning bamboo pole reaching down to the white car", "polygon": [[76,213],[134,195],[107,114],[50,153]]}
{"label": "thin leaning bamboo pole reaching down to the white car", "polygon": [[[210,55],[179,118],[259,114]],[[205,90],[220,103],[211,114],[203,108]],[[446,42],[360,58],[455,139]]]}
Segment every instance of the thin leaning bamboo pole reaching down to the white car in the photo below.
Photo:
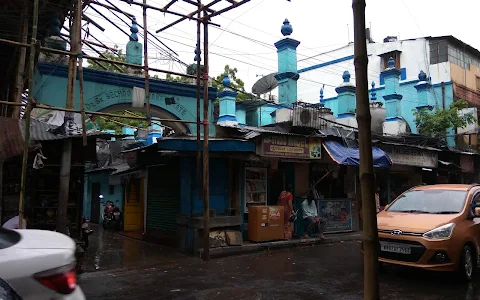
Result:
{"label": "thin leaning bamboo pole reaching down to the white car", "polygon": [[28,148],[30,146],[30,113],[32,112],[33,102],[33,74],[35,71],[35,44],[37,43],[37,26],[38,26],[38,2],[33,1],[33,21],[32,21],[32,37],[30,45],[30,57],[28,61],[28,100],[25,109],[25,137],[23,142],[23,158],[22,158],[22,178],[20,183],[20,200],[18,203],[18,227],[23,228],[23,209],[25,206],[25,193],[27,185],[27,163],[28,163]]}

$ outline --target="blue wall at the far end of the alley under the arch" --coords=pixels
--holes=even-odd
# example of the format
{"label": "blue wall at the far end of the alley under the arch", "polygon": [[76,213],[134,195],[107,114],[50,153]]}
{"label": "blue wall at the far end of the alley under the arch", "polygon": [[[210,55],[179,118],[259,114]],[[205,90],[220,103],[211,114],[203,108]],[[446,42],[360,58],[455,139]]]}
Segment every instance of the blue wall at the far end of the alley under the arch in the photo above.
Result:
{"label": "blue wall at the far end of the alley under the arch", "polygon": [[[110,194],[110,184],[109,184],[109,173],[108,172],[96,172],[96,173],[85,173],[85,185],[84,185],[84,201],[83,201],[83,215],[87,219],[91,219],[91,207],[92,207],[92,184],[95,182],[100,183],[100,193],[103,195],[104,199],[102,202],[107,200],[112,201],[116,206],[120,207],[120,210],[123,212],[123,185],[115,185],[114,193]],[[99,220],[102,220],[103,209],[105,208],[104,203],[100,203],[100,210],[98,211]]]}

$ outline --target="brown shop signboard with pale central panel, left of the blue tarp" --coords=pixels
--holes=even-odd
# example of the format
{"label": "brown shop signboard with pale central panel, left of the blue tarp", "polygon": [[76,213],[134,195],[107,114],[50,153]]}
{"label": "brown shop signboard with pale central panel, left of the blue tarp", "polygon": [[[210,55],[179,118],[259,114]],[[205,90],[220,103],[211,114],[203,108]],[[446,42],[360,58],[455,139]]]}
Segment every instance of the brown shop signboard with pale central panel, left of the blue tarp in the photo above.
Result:
{"label": "brown shop signboard with pale central panel, left of the blue tarp", "polygon": [[259,141],[257,153],[261,156],[276,158],[321,159],[322,143],[317,138],[269,136]]}

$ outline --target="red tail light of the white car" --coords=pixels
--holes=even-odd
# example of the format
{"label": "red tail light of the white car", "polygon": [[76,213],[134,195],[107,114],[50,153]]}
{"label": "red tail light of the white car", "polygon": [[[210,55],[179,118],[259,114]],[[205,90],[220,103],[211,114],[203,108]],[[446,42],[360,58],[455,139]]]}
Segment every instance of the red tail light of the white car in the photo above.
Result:
{"label": "red tail light of the white car", "polygon": [[77,273],[72,265],[37,273],[34,277],[44,286],[64,295],[70,294],[77,287]]}

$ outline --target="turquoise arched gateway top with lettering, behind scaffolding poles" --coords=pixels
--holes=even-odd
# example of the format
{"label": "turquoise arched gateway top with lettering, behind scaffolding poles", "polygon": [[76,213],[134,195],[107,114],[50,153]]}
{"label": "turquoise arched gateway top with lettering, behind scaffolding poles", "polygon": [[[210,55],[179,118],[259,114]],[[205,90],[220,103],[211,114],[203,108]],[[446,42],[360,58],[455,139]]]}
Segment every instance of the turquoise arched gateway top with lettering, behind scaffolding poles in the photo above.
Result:
{"label": "turquoise arched gateway top with lettering, behind scaffolding poles", "polygon": [[[42,104],[65,107],[67,95],[67,66],[39,63],[35,72],[34,97]],[[132,88],[145,87],[145,79],[113,72],[84,69],[85,109],[101,111],[118,104],[132,103]],[[79,83],[76,83],[74,106],[80,109]],[[216,89],[209,89],[210,135],[215,136],[213,101]],[[150,79],[150,103],[168,112],[173,118],[196,122],[196,87],[176,82]],[[203,101],[201,110],[203,111]],[[195,134],[196,124],[186,125]],[[203,129],[202,129],[203,131]]]}

